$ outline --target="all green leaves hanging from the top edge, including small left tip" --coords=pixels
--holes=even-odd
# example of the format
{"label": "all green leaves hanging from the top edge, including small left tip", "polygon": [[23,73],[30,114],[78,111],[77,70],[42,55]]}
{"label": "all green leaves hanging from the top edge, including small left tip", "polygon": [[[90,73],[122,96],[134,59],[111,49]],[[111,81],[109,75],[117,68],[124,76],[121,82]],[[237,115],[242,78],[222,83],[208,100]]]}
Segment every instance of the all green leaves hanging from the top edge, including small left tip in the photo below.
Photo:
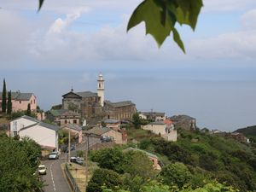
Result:
{"label": "all green leaves hanging from the top edge, including small left tip", "polygon": [[[39,11],[44,0],[38,1]],[[133,11],[128,22],[127,32],[144,21],[146,34],[152,35],[159,47],[172,32],[173,40],[185,53],[183,41],[175,25],[176,23],[188,25],[195,31],[202,6],[202,0],[144,0]]]}

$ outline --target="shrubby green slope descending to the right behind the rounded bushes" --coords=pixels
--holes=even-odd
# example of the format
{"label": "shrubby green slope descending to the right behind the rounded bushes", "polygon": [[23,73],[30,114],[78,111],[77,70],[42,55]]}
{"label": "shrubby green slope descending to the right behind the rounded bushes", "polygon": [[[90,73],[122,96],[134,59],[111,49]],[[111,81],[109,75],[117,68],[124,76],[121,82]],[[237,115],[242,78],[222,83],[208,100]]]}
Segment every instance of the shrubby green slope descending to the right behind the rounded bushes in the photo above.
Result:
{"label": "shrubby green slope descending to the right behind the rounded bushes", "polygon": [[192,169],[203,169],[209,177],[226,181],[241,191],[256,191],[256,148],[252,145],[200,131],[178,131],[177,143],[163,141],[159,145],[154,140],[160,140],[160,137],[148,131],[129,129],[127,132],[130,139],[141,142],[138,144],[140,148],[159,154],[165,164],[182,161]]}

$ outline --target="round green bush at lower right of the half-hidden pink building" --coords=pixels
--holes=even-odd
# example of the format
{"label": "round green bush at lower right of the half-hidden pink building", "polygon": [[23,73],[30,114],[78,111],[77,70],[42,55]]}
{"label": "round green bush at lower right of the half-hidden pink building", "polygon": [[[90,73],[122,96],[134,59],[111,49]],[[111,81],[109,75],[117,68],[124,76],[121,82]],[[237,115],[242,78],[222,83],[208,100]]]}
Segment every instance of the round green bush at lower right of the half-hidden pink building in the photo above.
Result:
{"label": "round green bush at lower right of the half-hidden pink building", "polygon": [[192,175],[187,166],[183,163],[176,162],[164,166],[160,172],[160,177],[163,183],[170,186],[177,185],[181,189],[186,183],[189,183]]}

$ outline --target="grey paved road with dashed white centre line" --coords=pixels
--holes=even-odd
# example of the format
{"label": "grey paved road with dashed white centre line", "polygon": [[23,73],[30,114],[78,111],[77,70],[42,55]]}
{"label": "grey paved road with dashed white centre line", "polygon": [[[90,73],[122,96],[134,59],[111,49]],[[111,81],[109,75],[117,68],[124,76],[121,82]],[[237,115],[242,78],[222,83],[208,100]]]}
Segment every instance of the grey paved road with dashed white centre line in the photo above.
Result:
{"label": "grey paved road with dashed white centre line", "polygon": [[43,176],[45,192],[71,192],[64,172],[61,170],[61,164],[65,162],[65,155],[61,154],[60,160],[45,160],[42,161],[47,167],[47,174]]}

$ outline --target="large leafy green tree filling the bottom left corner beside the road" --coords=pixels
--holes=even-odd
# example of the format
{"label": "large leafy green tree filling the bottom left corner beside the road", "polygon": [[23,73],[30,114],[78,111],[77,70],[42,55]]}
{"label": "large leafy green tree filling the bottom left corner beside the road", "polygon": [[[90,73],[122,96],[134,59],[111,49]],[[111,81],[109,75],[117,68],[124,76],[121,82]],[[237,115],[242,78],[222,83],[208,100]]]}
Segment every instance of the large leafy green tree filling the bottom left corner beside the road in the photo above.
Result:
{"label": "large leafy green tree filling the bottom left corner beside the road", "polygon": [[38,168],[40,150],[32,140],[0,139],[0,191],[40,191],[43,183],[34,174]]}

